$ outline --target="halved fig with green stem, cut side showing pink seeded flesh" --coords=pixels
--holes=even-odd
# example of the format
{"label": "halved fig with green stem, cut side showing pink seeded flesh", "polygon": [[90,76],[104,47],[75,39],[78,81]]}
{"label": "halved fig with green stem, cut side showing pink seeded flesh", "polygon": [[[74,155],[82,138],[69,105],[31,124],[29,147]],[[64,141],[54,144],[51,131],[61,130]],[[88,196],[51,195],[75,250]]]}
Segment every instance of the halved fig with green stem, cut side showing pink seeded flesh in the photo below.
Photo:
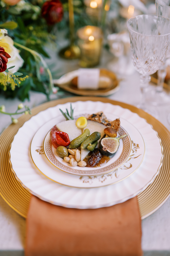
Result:
{"label": "halved fig with green stem, cut side showing pink seeded flesh", "polygon": [[106,137],[103,137],[99,143],[101,153],[105,156],[114,155],[119,148],[119,145],[120,145],[119,140],[126,136],[127,136],[127,134],[124,134],[118,138],[107,137],[107,135],[106,135]]}

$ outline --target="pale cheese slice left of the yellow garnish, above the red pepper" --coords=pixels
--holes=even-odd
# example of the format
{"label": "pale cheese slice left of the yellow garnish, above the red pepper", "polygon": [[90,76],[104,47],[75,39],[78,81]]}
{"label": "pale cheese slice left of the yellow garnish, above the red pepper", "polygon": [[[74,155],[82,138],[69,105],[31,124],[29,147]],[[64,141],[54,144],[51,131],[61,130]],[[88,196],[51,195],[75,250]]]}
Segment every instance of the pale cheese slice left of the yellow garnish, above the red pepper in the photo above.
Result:
{"label": "pale cheese slice left of the yellow garnish, above the red pepper", "polygon": [[66,132],[69,135],[70,141],[82,134],[81,129],[77,128],[76,126],[76,120],[62,121],[56,124],[56,127],[59,129],[59,131]]}

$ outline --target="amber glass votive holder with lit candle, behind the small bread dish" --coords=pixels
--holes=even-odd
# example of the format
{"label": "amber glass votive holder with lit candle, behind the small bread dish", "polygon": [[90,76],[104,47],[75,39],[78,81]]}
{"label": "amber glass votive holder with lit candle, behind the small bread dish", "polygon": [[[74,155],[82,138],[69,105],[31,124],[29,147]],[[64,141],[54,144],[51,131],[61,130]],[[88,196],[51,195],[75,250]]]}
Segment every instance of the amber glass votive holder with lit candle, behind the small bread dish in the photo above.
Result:
{"label": "amber glass votive holder with lit candle, behind the small bread dish", "polygon": [[85,26],[77,30],[78,46],[80,47],[80,66],[94,67],[100,61],[103,32],[95,26]]}

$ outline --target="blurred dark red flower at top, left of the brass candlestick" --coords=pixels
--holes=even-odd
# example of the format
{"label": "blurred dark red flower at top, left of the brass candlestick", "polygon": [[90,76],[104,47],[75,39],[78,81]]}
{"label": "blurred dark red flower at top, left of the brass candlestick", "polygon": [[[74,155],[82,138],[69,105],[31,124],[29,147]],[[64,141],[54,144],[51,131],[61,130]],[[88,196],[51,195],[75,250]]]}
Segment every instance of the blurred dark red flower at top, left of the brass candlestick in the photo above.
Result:
{"label": "blurred dark red flower at top, left of the brass candlestick", "polygon": [[41,9],[42,17],[46,19],[49,25],[53,25],[62,20],[63,5],[60,0],[51,0],[43,4]]}

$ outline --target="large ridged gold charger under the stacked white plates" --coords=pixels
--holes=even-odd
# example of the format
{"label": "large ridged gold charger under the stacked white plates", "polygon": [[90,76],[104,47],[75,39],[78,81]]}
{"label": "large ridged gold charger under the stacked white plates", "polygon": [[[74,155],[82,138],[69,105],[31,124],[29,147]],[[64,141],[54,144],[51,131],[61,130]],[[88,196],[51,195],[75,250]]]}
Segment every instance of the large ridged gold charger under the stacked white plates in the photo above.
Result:
{"label": "large ridged gold charger under the stacked white plates", "polygon": [[[62,104],[69,101],[75,102],[78,100],[109,102],[114,105],[119,105],[122,108],[127,108],[130,111],[137,113],[142,118],[145,118],[147,122],[150,123],[157,131],[163,145],[163,164],[160,169],[160,173],[155,178],[154,182],[138,195],[141,218],[146,218],[166,201],[170,193],[170,132],[153,116],[141,109],[135,108],[134,106],[126,103],[99,97],[71,97],[50,101],[33,108],[32,115],[36,115],[40,111],[53,107],[57,104]],[[32,115],[22,115],[18,119],[19,122],[17,124],[9,125],[0,136],[0,194],[10,207],[25,218],[27,217],[31,194],[21,186],[11,170],[9,164],[9,149],[18,129],[24,124],[25,121],[29,120]]]}

